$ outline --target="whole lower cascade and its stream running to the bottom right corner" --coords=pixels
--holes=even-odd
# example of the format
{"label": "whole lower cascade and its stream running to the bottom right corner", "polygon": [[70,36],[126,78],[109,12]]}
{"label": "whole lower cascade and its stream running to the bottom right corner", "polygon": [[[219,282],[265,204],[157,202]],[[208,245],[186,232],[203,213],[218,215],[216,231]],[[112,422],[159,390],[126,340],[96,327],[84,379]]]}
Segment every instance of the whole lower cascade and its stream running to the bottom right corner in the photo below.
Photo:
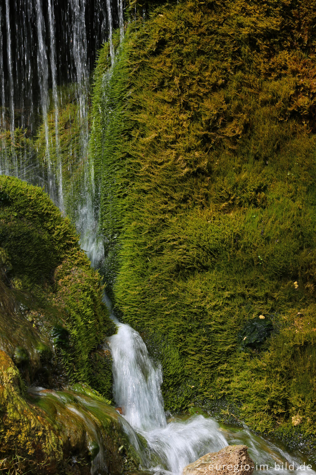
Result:
{"label": "whole lower cascade and its stream running to the bottom right corner", "polygon": [[293,473],[285,469],[287,463],[287,467],[293,464],[297,473],[316,475],[314,470],[307,469],[306,460],[302,466],[304,460],[299,454],[290,455],[271,441],[255,436],[247,427],[220,427],[214,419],[202,415],[167,422],[161,393],[161,367],[149,357],[139,333],[118,322],[106,296],[104,302],[118,327],[117,333],[107,341],[113,360],[114,399],[131,428],[147,441],[147,454],[140,454],[145,468],[154,474],[180,475],[186,465],[208,452],[217,452],[227,445],[245,444],[254,461],[253,473]]}

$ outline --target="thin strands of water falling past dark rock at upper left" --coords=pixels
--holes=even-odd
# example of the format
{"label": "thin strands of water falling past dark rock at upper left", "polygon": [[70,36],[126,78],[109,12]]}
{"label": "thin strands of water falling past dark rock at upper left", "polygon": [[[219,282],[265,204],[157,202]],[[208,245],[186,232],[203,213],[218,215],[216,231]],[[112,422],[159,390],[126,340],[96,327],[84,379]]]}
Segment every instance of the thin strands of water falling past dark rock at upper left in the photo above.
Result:
{"label": "thin strands of water falling past dark rock at upper left", "polygon": [[[71,213],[89,257],[100,259],[88,146],[90,73],[105,41],[114,61],[113,28],[124,36],[123,0],[69,0],[65,8],[59,0],[18,3],[0,4],[0,173],[45,185],[55,204]],[[79,145],[71,134],[69,153],[60,141],[65,99],[76,105],[80,131]],[[71,117],[69,123],[71,129]],[[38,133],[43,140],[33,150],[23,134],[36,140]]]}

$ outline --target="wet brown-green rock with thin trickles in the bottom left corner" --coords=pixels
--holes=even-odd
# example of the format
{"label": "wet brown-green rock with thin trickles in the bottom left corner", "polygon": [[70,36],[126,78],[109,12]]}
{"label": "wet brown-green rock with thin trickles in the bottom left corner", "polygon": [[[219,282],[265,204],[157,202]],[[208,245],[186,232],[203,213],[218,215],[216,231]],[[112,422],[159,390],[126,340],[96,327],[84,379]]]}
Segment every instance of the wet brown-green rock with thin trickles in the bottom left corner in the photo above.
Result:
{"label": "wet brown-green rock with thin trickles in the bottom left corner", "polygon": [[[115,409],[93,391],[31,388],[0,351],[0,465],[7,473],[121,474],[139,459]],[[3,458],[2,458],[3,457]]]}

